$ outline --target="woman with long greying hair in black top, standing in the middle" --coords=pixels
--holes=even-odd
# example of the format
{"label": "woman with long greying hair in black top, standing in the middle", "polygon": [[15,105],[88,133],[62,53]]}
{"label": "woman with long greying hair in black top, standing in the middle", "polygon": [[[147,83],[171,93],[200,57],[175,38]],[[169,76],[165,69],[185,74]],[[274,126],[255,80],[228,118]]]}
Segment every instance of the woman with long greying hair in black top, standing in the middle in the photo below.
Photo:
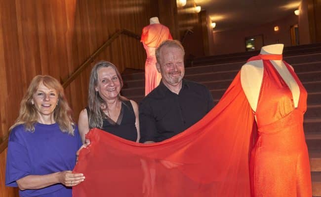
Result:
{"label": "woman with long greying hair in black top, standing in the middle", "polygon": [[120,72],[112,63],[100,61],[92,68],[88,106],[80,112],[78,121],[83,143],[92,128],[139,142],[138,105],[120,96],[122,85]]}

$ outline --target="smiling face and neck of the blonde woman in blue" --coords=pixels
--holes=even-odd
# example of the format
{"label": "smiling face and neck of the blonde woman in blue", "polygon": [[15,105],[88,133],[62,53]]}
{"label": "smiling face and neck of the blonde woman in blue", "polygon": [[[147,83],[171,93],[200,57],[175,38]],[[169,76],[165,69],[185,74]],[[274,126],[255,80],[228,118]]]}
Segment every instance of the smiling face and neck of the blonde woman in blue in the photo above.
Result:
{"label": "smiling face and neck of the blonde woman in blue", "polygon": [[46,87],[41,82],[31,102],[38,111],[39,122],[44,123],[43,120],[51,120],[51,123],[54,123],[53,111],[58,103],[56,90]]}

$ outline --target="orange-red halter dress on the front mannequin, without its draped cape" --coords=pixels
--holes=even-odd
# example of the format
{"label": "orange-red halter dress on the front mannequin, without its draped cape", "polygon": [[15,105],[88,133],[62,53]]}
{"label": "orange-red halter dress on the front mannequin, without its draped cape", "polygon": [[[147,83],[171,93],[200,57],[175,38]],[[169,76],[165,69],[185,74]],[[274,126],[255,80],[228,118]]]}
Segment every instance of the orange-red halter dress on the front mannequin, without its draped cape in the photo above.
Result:
{"label": "orange-red halter dress on the front mannequin, without its draped cape", "polygon": [[297,108],[292,93],[270,60],[260,55],[263,80],[255,112],[258,137],[250,160],[252,197],[312,197],[308,149],[303,131],[307,92],[284,62],[300,89]]}

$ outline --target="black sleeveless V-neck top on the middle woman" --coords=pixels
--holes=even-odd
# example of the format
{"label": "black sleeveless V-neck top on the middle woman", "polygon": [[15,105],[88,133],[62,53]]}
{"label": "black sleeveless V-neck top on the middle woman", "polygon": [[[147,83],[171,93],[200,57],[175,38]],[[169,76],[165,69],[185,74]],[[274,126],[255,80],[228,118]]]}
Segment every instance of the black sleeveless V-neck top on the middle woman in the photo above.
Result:
{"label": "black sleeveless V-neck top on the middle woman", "polygon": [[[89,117],[89,108],[86,107],[86,110]],[[117,122],[114,122],[112,119],[106,116],[106,119],[103,119],[103,127],[98,129],[107,131],[130,141],[136,141],[137,129],[135,126],[135,121],[136,117],[133,106],[129,100],[125,100],[121,101],[120,115]]]}

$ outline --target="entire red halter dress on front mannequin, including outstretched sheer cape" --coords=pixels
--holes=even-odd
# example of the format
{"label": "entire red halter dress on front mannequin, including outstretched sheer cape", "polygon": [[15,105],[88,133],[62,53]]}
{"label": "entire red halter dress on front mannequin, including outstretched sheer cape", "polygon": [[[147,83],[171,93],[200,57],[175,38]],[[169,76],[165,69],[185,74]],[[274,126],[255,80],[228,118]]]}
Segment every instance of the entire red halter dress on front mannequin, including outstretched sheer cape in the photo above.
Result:
{"label": "entire red halter dress on front mannequin, including outstretched sheer cape", "polygon": [[[261,59],[266,57],[271,58]],[[73,187],[73,197],[311,197],[302,129],[307,93],[291,71],[301,91],[295,109],[291,92],[269,64],[264,60],[252,156],[257,128],[239,72],[207,115],[162,142],[140,144],[89,131],[91,143],[74,169],[86,178]]]}

